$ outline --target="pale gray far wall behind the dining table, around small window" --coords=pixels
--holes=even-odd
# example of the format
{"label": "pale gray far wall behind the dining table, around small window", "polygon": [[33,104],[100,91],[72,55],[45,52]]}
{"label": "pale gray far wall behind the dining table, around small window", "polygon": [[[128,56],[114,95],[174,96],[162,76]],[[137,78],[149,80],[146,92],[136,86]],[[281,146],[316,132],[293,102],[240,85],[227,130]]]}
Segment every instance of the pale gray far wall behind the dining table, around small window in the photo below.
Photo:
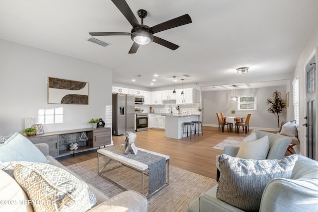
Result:
{"label": "pale gray far wall behind the dining table, around small window", "polygon": [[[217,112],[223,112],[226,116],[231,115],[232,110],[236,110],[236,116],[246,117],[251,113],[249,121],[250,129],[273,130],[277,127],[277,119],[275,116],[267,111],[267,98],[272,97],[272,93],[278,90],[282,97],[286,98],[286,87],[265,87],[265,88],[251,88],[251,89],[237,89],[236,95],[256,94],[257,95],[257,111],[241,112],[238,111],[237,101],[231,101],[233,90],[222,91],[203,91],[202,105],[203,118],[202,123],[205,126],[218,126]],[[286,109],[280,114],[280,122],[286,120]]]}

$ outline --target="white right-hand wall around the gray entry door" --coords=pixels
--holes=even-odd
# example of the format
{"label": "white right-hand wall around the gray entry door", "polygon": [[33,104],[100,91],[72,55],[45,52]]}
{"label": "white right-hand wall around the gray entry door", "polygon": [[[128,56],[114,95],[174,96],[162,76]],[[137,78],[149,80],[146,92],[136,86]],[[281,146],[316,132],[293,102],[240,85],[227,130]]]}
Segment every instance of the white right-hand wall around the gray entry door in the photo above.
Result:
{"label": "white right-hand wall around the gray entry door", "polygon": [[[312,58],[313,53],[315,53],[316,50],[316,108],[318,108],[318,91],[317,91],[317,79],[318,79],[318,73],[317,73],[317,47],[318,47],[318,26],[316,25],[316,28],[314,32],[312,33],[311,38],[308,40],[306,47],[304,48],[303,53],[301,54],[297,66],[295,68],[294,77],[299,76],[299,94],[300,94],[300,111],[299,111],[299,140],[300,140],[300,146],[297,146],[297,150],[300,151],[301,154],[307,156],[307,146],[306,146],[306,127],[302,126],[306,123],[306,120],[304,117],[306,116],[306,71],[305,66],[307,65],[308,61]],[[292,87],[292,85],[291,85]],[[317,111],[317,110],[316,110]],[[317,113],[317,112],[316,112]],[[316,119],[316,126],[318,126],[318,119]],[[318,129],[316,128],[316,143],[318,141]],[[318,160],[318,145],[316,144],[316,155]]]}

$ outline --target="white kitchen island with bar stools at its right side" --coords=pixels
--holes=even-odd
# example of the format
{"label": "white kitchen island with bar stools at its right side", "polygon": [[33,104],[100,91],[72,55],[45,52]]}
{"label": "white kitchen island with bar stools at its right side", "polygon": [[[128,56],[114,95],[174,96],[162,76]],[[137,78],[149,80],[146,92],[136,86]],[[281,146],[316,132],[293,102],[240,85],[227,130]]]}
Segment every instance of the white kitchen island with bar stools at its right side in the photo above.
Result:
{"label": "white kitchen island with bar stools at its right side", "polygon": [[165,136],[172,139],[181,139],[183,132],[183,123],[192,121],[200,121],[200,114],[165,115]]}

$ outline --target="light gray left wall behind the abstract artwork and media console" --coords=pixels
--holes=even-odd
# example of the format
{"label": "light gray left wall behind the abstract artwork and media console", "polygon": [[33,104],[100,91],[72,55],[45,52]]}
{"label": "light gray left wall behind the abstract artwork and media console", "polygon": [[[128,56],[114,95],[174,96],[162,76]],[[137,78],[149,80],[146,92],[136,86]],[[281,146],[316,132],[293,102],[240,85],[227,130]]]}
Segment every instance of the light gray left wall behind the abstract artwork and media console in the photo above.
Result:
{"label": "light gray left wall behind the abstract artwork and media console", "polygon": [[[64,123],[43,125],[44,132],[87,128],[112,104],[112,70],[90,62],[0,40],[0,72],[0,135],[21,132],[26,117],[37,123],[38,109],[61,106]],[[88,105],[48,104],[48,76],[88,82]]]}

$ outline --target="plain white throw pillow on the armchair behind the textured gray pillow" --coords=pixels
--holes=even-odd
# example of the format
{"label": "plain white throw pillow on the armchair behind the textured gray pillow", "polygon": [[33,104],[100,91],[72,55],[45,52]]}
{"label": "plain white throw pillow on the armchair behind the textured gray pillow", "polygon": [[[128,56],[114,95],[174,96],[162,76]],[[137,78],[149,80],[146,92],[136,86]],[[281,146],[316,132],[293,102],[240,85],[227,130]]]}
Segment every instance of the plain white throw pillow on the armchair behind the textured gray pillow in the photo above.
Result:
{"label": "plain white throw pillow on the armchair behind the textured gray pillow", "polygon": [[269,151],[268,136],[264,136],[263,138],[260,138],[255,141],[244,139],[239,147],[237,157],[243,158],[243,159],[263,160],[263,159],[266,159],[268,151]]}

